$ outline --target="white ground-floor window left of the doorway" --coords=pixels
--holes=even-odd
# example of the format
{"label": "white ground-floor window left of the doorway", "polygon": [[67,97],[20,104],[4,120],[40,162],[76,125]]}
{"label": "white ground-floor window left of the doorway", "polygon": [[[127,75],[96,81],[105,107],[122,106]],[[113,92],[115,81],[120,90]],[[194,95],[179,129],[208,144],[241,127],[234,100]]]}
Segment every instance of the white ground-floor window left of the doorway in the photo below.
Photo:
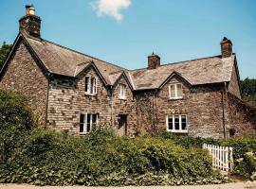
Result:
{"label": "white ground-floor window left of the doorway", "polygon": [[98,123],[98,114],[84,113],[80,114],[80,133],[86,134],[92,130]]}

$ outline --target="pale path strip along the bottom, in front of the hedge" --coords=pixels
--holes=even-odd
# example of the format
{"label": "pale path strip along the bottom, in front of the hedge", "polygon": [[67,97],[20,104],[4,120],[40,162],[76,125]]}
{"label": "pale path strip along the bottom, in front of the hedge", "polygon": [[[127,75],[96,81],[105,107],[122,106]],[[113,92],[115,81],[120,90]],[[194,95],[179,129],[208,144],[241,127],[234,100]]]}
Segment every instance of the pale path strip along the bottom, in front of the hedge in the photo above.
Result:
{"label": "pale path strip along the bottom, in front of the hedge", "polygon": [[86,187],[86,186],[34,186],[27,184],[1,184],[0,189],[256,189],[254,182],[236,182],[197,186],[125,186],[125,187]]}

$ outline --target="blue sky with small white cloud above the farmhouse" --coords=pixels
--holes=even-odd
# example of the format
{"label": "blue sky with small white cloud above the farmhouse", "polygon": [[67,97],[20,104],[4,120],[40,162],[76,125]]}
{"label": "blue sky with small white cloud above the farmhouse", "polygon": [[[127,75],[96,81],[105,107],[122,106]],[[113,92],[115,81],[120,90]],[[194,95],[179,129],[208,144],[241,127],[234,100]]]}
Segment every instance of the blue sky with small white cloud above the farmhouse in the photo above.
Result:
{"label": "blue sky with small white cloud above the farmhouse", "polygon": [[13,43],[31,3],[44,39],[125,68],[153,51],[162,63],[219,55],[226,36],[240,76],[256,77],[255,0],[1,0],[0,43]]}

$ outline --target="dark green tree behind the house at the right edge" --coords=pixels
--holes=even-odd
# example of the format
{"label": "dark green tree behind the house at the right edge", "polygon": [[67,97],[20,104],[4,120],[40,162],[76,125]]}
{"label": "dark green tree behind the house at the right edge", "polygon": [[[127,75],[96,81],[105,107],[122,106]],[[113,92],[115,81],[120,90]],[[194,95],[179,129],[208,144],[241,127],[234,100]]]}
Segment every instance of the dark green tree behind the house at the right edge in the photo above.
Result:
{"label": "dark green tree behind the house at the right edge", "polygon": [[241,80],[241,90],[243,100],[256,108],[256,78]]}

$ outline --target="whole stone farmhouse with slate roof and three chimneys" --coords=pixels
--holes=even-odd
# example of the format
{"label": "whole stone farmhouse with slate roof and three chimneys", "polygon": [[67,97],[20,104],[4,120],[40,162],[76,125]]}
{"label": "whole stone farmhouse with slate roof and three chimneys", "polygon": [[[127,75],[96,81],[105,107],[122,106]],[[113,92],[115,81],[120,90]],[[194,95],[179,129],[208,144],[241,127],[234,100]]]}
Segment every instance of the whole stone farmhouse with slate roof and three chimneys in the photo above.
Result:
{"label": "whole stone farmhouse with slate roof and three chimneys", "polygon": [[33,6],[0,72],[0,88],[27,94],[39,123],[84,135],[98,125],[119,135],[167,131],[223,138],[255,132],[256,113],[241,100],[232,43],[221,55],[129,70],[41,38]]}

